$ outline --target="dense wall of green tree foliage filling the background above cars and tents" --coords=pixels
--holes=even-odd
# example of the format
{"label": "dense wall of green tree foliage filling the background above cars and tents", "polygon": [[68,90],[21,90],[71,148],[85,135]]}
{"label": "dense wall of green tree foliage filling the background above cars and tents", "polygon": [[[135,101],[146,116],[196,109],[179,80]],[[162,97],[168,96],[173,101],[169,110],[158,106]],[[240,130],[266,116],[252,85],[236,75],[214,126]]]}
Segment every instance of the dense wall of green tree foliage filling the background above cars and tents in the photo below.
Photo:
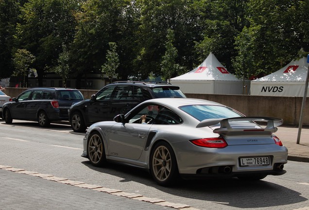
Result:
{"label": "dense wall of green tree foliage filling the background above cars and tents", "polygon": [[309,53],[308,17],[308,0],[0,0],[0,78],[17,49],[35,56],[39,86],[115,63],[123,80],[169,79],[210,52],[239,78],[269,74]]}

